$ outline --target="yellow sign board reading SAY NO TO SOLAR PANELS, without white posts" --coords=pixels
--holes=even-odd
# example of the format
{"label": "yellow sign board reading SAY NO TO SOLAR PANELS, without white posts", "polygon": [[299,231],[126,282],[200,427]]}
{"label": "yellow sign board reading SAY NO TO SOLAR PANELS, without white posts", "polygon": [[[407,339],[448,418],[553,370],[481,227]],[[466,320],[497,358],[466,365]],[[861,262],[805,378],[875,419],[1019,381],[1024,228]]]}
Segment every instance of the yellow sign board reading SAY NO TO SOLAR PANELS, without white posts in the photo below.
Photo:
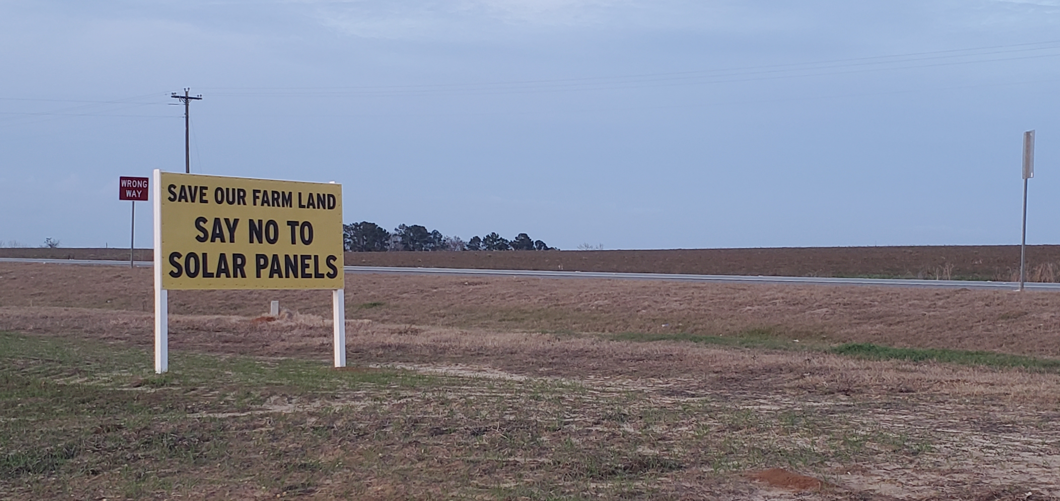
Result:
{"label": "yellow sign board reading SAY NO TO SOLAR PANELS, without white posts", "polygon": [[163,289],[341,289],[342,185],[159,173]]}

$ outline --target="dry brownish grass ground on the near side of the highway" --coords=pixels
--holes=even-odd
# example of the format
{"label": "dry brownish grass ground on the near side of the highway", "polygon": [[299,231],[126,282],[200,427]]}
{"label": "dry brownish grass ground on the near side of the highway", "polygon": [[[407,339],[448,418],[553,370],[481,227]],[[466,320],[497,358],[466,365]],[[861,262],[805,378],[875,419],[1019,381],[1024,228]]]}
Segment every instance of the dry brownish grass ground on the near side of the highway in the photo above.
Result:
{"label": "dry brownish grass ground on the near side of the highway", "polygon": [[[268,301],[288,311],[261,321]],[[1060,294],[0,264],[0,499],[1060,499]]]}

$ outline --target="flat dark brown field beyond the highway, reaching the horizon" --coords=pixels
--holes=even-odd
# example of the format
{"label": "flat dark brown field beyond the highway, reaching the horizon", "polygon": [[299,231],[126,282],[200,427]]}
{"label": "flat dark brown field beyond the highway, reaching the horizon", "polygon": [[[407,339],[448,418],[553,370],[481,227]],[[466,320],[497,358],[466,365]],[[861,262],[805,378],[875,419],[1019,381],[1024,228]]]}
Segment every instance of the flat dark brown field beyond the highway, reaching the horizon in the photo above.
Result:
{"label": "flat dark brown field beyond the highway, reaching the horizon", "polygon": [[[128,249],[0,249],[0,257],[128,260]],[[149,261],[151,249],[136,258]],[[348,252],[351,266],[887,279],[1019,280],[1019,246]],[[1060,280],[1060,246],[1027,247],[1028,280]]]}

